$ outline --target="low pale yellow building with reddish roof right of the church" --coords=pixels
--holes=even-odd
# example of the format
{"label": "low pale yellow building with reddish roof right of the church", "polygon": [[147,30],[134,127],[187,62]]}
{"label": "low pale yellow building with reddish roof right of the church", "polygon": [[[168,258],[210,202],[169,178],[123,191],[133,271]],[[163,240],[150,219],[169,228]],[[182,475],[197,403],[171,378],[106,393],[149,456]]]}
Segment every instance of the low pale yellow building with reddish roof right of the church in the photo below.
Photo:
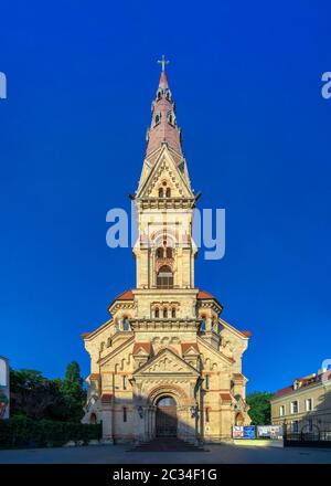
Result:
{"label": "low pale yellow building with reddish roof right of the church", "polygon": [[331,371],[298,378],[271,398],[271,423],[292,433],[331,431]]}

